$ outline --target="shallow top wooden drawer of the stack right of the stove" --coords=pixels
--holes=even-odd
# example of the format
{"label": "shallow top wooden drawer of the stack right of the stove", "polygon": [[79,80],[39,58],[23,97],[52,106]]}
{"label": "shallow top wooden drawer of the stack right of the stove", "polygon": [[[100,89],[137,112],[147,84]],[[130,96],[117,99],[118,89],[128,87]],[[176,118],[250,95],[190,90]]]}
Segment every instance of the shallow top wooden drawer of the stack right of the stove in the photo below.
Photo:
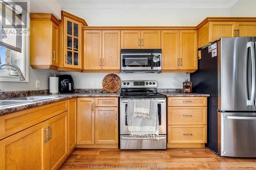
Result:
{"label": "shallow top wooden drawer of the stack right of the stove", "polygon": [[207,106],[207,97],[168,98],[168,106]]}

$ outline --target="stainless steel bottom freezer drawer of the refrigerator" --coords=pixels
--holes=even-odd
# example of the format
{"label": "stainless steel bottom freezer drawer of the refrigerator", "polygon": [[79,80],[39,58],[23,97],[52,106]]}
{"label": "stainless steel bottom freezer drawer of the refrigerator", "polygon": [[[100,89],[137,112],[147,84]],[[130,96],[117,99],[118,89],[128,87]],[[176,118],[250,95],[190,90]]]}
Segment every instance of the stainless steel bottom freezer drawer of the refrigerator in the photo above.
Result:
{"label": "stainless steel bottom freezer drawer of the refrigerator", "polygon": [[221,156],[256,157],[256,113],[220,114]]}

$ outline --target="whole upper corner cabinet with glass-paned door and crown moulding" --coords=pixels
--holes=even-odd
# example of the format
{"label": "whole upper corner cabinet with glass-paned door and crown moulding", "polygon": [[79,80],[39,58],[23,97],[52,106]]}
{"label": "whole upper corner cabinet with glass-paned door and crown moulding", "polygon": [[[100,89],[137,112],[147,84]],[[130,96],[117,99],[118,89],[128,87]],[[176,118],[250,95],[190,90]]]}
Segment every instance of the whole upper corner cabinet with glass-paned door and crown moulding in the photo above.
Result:
{"label": "whole upper corner cabinet with glass-paned door and crown moulding", "polygon": [[58,70],[82,70],[82,26],[87,26],[87,23],[82,18],[62,11],[59,26],[60,55]]}

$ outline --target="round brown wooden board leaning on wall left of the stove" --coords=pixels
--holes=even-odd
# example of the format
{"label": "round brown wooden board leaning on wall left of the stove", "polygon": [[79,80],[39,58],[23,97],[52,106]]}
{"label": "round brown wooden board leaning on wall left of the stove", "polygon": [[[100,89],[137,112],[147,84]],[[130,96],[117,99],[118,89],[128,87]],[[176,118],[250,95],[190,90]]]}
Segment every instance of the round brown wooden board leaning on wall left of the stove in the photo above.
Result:
{"label": "round brown wooden board leaning on wall left of the stove", "polygon": [[106,90],[108,92],[113,93],[120,89],[121,80],[119,76],[117,76],[116,74],[108,74],[102,80],[102,86],[103,88],[100,92]]}

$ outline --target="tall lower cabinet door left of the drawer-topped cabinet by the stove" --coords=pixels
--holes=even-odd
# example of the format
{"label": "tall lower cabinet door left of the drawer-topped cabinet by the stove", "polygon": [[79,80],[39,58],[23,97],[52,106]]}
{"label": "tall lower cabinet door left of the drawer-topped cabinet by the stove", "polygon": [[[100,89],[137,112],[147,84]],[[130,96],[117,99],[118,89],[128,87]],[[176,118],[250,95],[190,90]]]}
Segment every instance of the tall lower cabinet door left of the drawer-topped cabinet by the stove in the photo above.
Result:
{"label": "tall lower cabinet door left of the drawer-topped cabinet by the stove", "polygon": [[77,99],[77,144],[94,144],[94,98]]}

